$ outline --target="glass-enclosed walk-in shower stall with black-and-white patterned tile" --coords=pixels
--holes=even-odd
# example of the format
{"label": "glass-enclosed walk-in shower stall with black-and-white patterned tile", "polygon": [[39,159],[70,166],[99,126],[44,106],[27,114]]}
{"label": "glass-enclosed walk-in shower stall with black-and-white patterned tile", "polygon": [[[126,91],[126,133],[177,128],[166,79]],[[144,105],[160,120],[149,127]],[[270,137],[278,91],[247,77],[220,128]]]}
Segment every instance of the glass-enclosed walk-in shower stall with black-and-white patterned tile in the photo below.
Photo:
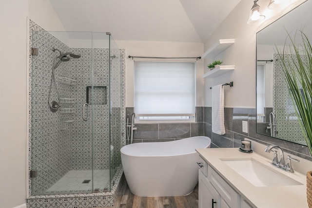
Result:
{"label": "glass-enclosed walk-in shower stall with black-and-white patterned tile", "polygon": [[111,192],[125,145],[124,49],[110,33],[32,21],[30,48],[29,195]]}

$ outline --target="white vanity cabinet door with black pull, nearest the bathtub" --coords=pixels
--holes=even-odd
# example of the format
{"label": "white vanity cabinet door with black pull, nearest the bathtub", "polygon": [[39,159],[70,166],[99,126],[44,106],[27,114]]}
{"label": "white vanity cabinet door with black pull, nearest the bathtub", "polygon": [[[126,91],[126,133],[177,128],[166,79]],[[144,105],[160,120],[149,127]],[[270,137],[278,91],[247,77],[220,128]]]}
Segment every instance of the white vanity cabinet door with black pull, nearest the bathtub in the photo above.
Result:
{"label": "white vanity cabinet door with black pull, nearest the bathtub", "polygon": [[221,208],[220,194],[201,170],[198,171],[198,208]]}

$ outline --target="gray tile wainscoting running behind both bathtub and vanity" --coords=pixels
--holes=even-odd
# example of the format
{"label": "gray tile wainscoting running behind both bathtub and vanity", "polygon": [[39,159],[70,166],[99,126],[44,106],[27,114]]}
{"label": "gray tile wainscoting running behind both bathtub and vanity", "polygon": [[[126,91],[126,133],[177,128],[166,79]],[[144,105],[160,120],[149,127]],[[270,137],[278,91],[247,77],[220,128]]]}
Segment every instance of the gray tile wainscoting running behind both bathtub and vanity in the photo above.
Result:
{"label": "gray tile wainscoting running behind both bathtub and vanity", "polygon": [[[205,135],[212,139],[211,148],[239,148],[240,141],[248,138],[265,145],[278,145],[284,151],[312,160],[307,146],[256,133],[255,109],[225,108],[226,133],[223,135],[212,132],[211,110],[211,107],[196,107],[195,123],[136,124],[137,132],[133,134],[133,143],[173,141]],[[127,107],[126,117],[130,118],[133,112],[134,108]],[[242,132],[242,121],[248,122],[248,133]]]}

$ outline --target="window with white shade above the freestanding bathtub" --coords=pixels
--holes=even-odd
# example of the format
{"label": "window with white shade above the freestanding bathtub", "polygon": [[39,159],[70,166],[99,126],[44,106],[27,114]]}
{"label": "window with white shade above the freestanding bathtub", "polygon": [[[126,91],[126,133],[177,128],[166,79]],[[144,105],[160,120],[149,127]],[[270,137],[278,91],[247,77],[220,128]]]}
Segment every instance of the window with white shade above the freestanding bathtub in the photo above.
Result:
{"label": "window with white shade above the freestanding bathtub", "polygon": [[139,120],[195,118],[195,62],[135,61]]}

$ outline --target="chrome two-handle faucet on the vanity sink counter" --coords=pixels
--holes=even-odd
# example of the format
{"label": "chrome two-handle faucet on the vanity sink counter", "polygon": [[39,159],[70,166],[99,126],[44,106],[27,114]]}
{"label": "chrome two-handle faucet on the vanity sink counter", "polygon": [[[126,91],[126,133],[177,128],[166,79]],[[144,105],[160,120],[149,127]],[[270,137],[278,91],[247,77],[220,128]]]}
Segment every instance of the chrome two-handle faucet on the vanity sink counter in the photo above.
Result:
{"label": "chrome two-handle faucet on the vanity sink counter", "polygon": [[[274,149],[281,151],[281,154],[279,155],[279,159],[278,159],[277,151],[275,151]],[[294,159],[288,155],[286,165],[285,165],[284,151],[279,146],[276,146],[276,145],[269,145],[264,151],[265,152],[273,151],[274,157],[273,157],[271,164],[277,168],[285,170],[286,172],[293,172],[291,160],[295,162],[300,162],[300,160]]]}

